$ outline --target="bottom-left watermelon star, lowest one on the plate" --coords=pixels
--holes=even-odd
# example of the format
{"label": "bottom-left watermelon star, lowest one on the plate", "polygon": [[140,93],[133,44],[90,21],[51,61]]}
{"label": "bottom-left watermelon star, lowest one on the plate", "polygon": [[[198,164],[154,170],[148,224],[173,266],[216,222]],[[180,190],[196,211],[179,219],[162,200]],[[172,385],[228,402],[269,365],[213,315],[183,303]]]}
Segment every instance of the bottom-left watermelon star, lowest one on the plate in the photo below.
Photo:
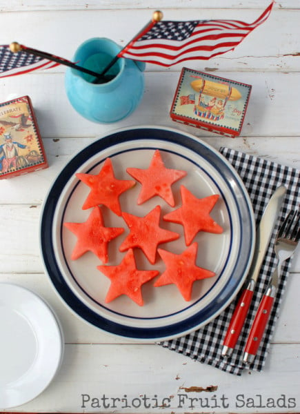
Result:
{"label": "bottom-left watermelon star, lowest one on the plate", "polygon": [[130,248],[117,266],[97,266],[110,279],[110,288],[106,295],[106,303],[121,295],[127,295],[139,306],[143,306],[141,287],[159,274],[158,270],[138,270],[133,250]]}

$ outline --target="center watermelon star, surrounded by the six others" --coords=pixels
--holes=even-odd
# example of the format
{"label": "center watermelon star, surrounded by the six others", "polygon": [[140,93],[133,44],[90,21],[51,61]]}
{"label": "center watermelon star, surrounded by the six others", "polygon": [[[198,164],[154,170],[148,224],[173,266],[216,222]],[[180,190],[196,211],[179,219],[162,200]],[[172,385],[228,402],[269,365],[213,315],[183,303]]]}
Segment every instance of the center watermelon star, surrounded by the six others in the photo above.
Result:
{"label": "center watermelon star, surrounded by the six others", "polygon": [[126,221],[130,233],[119,250],[123,252],[129,248],[141,248],[151,264],[155,263],[159,244],[172,242],[179,238],[178,233],[159,226],[161,206],[153,208],[145,217],[137,217],[129,213],[122,213],[122,217]]}

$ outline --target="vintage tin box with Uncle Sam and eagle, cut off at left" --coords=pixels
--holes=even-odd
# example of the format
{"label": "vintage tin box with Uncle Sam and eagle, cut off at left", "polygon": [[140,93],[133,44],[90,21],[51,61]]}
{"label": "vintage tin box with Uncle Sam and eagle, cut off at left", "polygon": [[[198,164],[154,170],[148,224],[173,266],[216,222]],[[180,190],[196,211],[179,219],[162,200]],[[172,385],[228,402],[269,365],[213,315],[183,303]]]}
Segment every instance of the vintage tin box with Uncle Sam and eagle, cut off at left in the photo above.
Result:
{"label": "vintage tin box with Uncle Sam and eagle, cut off at left", "polygon": [[0,179],[47,168],[30,97],[0,104]]}

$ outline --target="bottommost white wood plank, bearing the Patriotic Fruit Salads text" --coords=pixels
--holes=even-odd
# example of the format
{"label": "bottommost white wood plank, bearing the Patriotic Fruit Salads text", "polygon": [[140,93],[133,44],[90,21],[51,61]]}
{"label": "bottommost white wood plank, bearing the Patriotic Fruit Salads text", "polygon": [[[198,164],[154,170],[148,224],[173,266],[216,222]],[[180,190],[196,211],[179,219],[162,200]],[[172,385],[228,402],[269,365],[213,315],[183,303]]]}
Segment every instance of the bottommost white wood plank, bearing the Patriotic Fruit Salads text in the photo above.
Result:
{"label": "bottommost white wood plank, bearing the Patriotic Fruit Salads text", "polygon": [[12,411],[297,413],[299,351],[274,345],[263,373],[234,377],[155,345],[70,344],[55,381]]}

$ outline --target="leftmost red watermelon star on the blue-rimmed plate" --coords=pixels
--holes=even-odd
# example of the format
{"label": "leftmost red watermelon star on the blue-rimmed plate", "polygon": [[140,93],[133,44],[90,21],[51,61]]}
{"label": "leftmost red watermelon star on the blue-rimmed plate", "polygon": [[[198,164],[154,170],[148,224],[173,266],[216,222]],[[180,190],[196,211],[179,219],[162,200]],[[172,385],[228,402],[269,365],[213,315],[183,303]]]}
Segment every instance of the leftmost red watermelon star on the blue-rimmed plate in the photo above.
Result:
{"label": "leftmost red watermelon star on the blue-rimmed plate", "polygon": [[94,207],[88,219],[84,223],[63,223],[74,235],[77,242],[72,251],[71,259],[79,257],[91,251],[99,257],[102,263],[108,262],[108,243],[121,235],[124,228],[105,227],[99,206]]}

